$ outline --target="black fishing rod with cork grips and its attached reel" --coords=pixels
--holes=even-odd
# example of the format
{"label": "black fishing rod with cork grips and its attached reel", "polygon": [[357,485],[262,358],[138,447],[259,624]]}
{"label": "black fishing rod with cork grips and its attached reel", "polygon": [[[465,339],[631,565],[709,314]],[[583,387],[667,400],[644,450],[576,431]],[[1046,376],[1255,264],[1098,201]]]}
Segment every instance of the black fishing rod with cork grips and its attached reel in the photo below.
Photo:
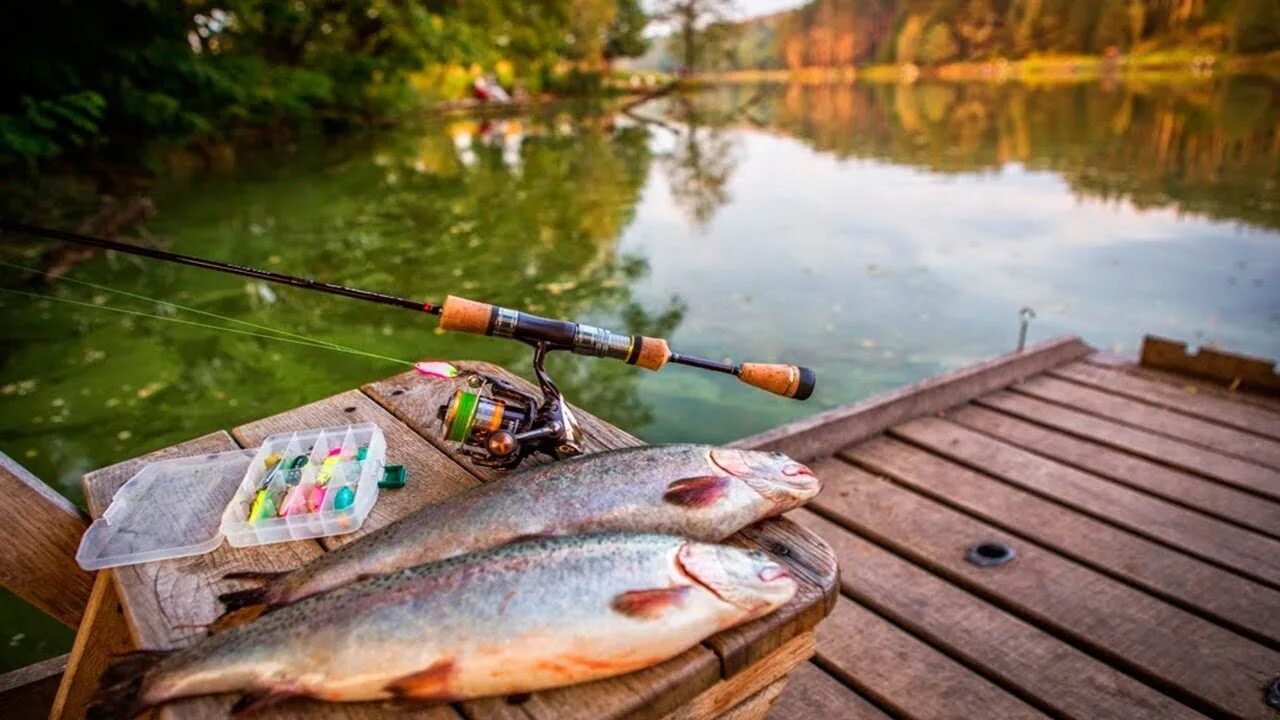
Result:
{"label": "black fishing rod with cork grips and its attached reel", "polygon": [[[817,383],[814,372],[799,365],[708,360],[673,352],[663,338],[616,333],[585,323],[543,318],[454,295],[447,296],[442,304],[422,302],[26,223],[0,219],[0,229],[428,313],[438,315],[440,328],[445,331],[502,337],[531,345],[534,347],[534,373],[543,391],[540,402],[509,383],[488,375],[477,375],[477,379],[470,379],[471,391],[458,391],[462,395],[456,395],[448,406],[440,407],[440,419],[447,425],[449,439],[480,452],[481,456],[476,457],[477,462],[493,464],[494,466],[513,466],[534,451],[558,457],[576,455],[581,451],[581,433],[577,430],[577,423],[568,411],[559,389],[556,388],[543,368],[547,354],[554,350],[612,357],[646,370],[660,370],[668,363],[687,365],[733,375],[751,387],[795,400],[806,400],[813,395]],[[424,372],[424,374],[431,373]]]}

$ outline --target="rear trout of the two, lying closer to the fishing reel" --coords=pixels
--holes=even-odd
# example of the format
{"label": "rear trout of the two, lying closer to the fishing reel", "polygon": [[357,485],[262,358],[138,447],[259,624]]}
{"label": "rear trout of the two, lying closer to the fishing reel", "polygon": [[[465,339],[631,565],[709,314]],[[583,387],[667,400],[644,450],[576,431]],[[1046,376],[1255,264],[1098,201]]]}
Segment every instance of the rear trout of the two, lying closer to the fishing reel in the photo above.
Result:
{"label": "rear trout of the two, lying closer to the fishing reel", "polygon": [[586,533],[721,541],[818,495],[809,468],[777,452],[701,445],[614,450],[530,468],[422,507],[287,573],[232,573],[259,587],[219,596],[220,630],[361,578],[498,547]]}

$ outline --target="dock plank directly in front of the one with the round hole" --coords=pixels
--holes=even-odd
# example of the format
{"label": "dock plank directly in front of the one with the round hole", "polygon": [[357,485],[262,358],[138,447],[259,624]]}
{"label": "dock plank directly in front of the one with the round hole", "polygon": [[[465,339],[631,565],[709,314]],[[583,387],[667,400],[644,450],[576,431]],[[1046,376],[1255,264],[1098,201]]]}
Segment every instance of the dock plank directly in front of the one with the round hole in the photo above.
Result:
{"label": "dock plank directly in front of the one with the round hole", "polygon": [[[838,491],[837,491],[838,492]],[[925,639],[1039,710],[1061,717],[1201,715],[1014,615],[806,510],[787,515],[822,536],[845,594]]]}

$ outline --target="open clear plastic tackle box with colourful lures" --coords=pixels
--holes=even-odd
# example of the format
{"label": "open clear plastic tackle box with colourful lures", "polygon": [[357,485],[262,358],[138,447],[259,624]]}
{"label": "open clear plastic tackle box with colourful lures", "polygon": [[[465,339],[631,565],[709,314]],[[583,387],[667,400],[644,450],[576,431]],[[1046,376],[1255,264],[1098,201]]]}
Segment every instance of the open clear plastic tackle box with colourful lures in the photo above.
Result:
{"label": "open clear plastic tackle box with colourful lures", "polygon": [[372,423],[280,433],[256,450],[142,468],[81,538],[86,570],[351,533],[378,500],[387,439]]}

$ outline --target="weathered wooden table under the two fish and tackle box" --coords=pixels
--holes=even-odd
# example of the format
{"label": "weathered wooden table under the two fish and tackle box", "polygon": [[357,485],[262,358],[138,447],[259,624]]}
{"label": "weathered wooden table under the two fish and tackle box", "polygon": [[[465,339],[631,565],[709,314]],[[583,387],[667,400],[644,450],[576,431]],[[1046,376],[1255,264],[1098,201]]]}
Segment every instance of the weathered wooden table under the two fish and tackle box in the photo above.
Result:
{"label": "weathered wooden table under the two fish and tackle box", "polygon": [[[513,375],[479,363],[460,363],[467,370]],[[100,574],[90,614],[101,612],[108,624],[114,603],[114,579],[128,638],[122,644],[140,648],[175,648],[198,639],[219,614],[216,594],[229,585],[220,578],[232,570],[285,570],[351,542],[428,503],[488,482],[499,471],[462,460],[440,438],[436,409],[461,380],[428,379],[406,373],[348,391],[311,405],[225,432],[212,433],[145,457],[105,468],[84,477],[84,496],[96,518],[115,491],[143,464],[164,457],[253,447],[268,436],[349,423],[376,423],[387,436],[388,464],[404,465],[404,488],[379,493],[378,503],[358,533],[251,548],[223,544],[216,551],[161,562],[120,568]],[[522,380],[520,380],[522,382]],[[635,437],[575,409],[586,434],[589,452],[643,445]],[[786,674],[814,652],[814,628],[835,607],[838,578],[832,550],[812,532],[786,519],[754,525],[731,538],[740,546],[763,547],[786,562],[797,580],[796,597],[777,612],[714,635],[662,665],[628,675],[582,685],[535,693],[511,703],[490,698],[454,706],[412,707],[390,703],[323,705],[292,702],[264,717],[375,717],[383,715],[453,720],[468,719],[570,719],[570,717],[762,717],[785,684]],[[93,625],[93,623],[88,623]],[[93,629],[82,626],[72,664],[95,642]],[[119,641],[115,641],[119,642]],[[73,671],[100,671],[86,660]],[[83,683],[82,683],[83,684]],[[64,683],[74,685],[74,683]],[[72,691],[70,694],[83,694]],[[64,693],[65,694],[65,693]],[[233,697],[173,703],[165,717],[221,717]],[[76,705],[72,702],[70,705]]]}

